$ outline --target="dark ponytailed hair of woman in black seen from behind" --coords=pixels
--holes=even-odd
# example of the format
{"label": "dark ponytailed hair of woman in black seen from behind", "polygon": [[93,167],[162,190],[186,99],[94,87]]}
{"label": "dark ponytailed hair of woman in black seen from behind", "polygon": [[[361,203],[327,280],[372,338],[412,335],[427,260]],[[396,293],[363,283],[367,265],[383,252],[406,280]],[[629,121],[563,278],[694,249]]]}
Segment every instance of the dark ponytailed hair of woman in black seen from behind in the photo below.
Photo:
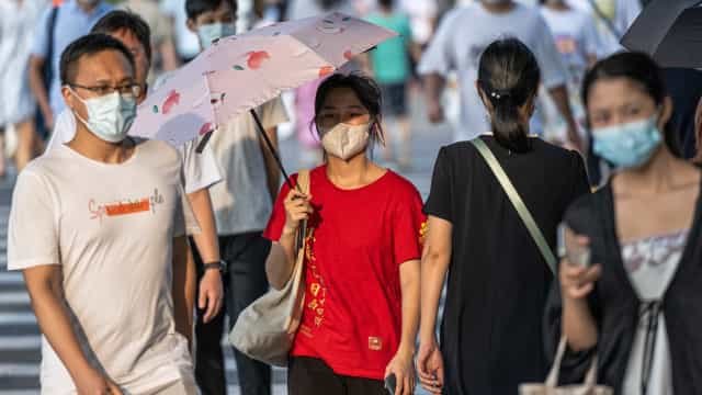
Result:
{"label": "dark ponytailed hair of woman in black seen from behind", "polygon": [[541,71],[531,50],[517,38],[498,40],[485,48],[478,68],[478,84],[495,112],[495,139],[503,147],[525,153],[529,135],[519,120],[519,108],[539,90]]}

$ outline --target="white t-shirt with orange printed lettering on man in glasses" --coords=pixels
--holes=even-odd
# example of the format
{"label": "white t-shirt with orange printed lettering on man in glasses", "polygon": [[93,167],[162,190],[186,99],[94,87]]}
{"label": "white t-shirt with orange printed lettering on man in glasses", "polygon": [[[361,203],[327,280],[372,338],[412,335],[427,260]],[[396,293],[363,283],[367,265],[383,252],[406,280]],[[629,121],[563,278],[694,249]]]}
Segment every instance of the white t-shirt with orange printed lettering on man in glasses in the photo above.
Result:
{"label": "white t-shirt with orange printed lettering on man in glasses", "polygon": [[[167,143],[139,142],[107,165],[60,145],[18,178],[8,268],[58,264],[73,331],[94,366],[132,394],[192,376],[173,320],[172,242],[197,232]],[[42,393],[73,394],[58,356],[42,340]]]}

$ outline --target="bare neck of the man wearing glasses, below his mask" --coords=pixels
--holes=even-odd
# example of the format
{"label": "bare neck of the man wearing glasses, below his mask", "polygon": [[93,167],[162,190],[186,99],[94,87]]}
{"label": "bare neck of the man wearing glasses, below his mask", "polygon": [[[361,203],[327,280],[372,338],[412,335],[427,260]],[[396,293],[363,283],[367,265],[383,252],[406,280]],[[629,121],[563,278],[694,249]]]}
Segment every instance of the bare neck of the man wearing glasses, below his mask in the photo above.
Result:
{"label": "bare neck of the man wearing glasses, below his mask", "polygon": [[67,146],[86,158],[107,165],[120,165],[134,154],[134,144],[128,139],[109,143],[88,131],[79,120],[76,122],[76,136]]}

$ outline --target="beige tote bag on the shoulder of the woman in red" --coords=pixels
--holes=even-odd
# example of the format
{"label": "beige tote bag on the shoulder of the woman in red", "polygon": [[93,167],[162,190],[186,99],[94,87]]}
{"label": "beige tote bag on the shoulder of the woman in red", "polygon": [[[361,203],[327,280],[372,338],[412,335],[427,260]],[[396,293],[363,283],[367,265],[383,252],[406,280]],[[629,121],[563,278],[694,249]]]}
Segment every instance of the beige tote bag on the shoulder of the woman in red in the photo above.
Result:
{"label": "beige tote bag on the shoulder of the woman in red", "polygon": [[[301,191],[309,194],[309,171],[297,174]],[[258,361],[286,366],[290,349],[299,327],[305,303],[304,259],[305,237],[312,229],[306,224],[297,235],[297,259],[290,280],[282,290],[271,289],[251,303],[237,318],[229,342]]]}

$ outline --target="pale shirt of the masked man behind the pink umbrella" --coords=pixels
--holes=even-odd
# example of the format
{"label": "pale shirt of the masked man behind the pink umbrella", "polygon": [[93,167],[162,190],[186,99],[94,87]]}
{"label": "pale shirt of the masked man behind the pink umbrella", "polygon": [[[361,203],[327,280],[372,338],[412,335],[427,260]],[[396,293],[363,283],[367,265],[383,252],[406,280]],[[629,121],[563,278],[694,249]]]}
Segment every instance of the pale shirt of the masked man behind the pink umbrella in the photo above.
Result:
{"label": "pale shirt of the masked man behind the pink umbrella", "polygon": [[[271,128],[287,122],[280,98],[257,109],[261,124]],[[260,232],[271,216],[272,201],[268,188],[265,162],[253,116],[233,119],[212,134],[210,145],[224,180],[210,189],[218,235]]]}

